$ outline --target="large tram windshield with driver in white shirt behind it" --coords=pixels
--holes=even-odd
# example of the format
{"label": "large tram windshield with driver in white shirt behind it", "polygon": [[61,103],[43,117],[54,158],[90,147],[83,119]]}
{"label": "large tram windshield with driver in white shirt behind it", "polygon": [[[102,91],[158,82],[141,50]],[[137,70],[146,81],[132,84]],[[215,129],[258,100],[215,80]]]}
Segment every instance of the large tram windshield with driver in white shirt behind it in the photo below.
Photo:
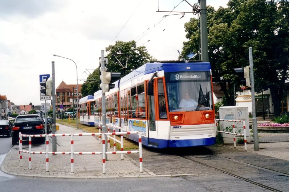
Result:
{"label": "large tram windshield with driver in white shirt behind it", "polygon": [[168,72],[165,83],[170,112],[213,110],[210,72]]}

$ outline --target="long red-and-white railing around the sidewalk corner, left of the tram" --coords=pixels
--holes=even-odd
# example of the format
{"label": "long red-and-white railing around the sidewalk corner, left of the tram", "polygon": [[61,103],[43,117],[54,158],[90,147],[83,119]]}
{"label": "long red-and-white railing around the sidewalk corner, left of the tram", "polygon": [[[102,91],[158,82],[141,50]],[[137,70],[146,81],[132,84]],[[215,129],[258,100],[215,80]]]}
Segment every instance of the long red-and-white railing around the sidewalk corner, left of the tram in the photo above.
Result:
{"label": "long red-and-white railing around the sidewalk corner, left of the tram", "polygon": [[[128,134],[138,134],[139,135],[139,151],[123,151],[123,138],[122,135]],[[99,136],[102,135],[102,151],[87,151],[87,152],[74,152],[74,136]],[[104,135],[107,135],[109,138],[114,139],[114,151],[105,152],[105,140]],[[113,135],[114,137],[111,137]],[[115,139],[115,135],[121,135],[121,141]],[[49,151],[49,136],[51,137],[71,137],[71,151]],[[22,150],[22,137],[29,138],[29,150]],[[32,137],[46,137],[46,151],[31,151],[31,138]],[[121,151],[116,151],[115,142],[121,143]],[[108,133],[71,133],[71,134],[47,134],[47,135],[23,135],[19,133],[19,167],[22,167],[22,153],[28,153],[28,170],[31,170],[31,154],[46,154],[46,172],[49,172],[49,154],[52,155],[71,155],[71,173],[74,173],[74,156],[73,155],[103,155],[103,173],[105,173],[105,154],[121,154],[123,159],[123,154],[132,154],[132,153],[140,153],[140,173],[143,172],[142,168],[142,145],[141,145],[141,134],[138,131],[131,132],[108,132]]]}

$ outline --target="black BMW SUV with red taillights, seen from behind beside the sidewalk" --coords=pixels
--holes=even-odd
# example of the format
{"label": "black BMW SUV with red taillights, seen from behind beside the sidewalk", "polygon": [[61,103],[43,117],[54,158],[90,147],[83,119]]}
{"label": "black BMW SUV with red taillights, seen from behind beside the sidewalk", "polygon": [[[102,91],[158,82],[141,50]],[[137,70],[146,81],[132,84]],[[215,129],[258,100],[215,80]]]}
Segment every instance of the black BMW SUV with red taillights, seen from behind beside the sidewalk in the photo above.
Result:
{"label": "black BMW SUV with red taillights, seen from behind beside the sidewalk", "polygon": [[[20,115],[17,116],[12,128],[12,145],[19,141],[19,132],[28,135],[45,134],[45,122],[39,115]],[[45,142],[45,137],[36,137],[41,142]],[[36,139],[33,138],[33,139]],[[28,139],[23,137],[23,140]]]}

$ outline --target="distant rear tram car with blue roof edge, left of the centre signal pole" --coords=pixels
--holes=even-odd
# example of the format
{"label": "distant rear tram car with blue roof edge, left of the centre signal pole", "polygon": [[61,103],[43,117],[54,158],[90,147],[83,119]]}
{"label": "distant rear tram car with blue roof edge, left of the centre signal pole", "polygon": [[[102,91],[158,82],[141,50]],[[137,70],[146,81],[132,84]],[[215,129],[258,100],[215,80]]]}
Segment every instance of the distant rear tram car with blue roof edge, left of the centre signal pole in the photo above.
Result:
{"label": "distant rear tram car with blue roof edge, left of the centre signal pole", "polygon": [[88,95],[79,99],[79,122],[85,125],[94,125],[94,97]]}

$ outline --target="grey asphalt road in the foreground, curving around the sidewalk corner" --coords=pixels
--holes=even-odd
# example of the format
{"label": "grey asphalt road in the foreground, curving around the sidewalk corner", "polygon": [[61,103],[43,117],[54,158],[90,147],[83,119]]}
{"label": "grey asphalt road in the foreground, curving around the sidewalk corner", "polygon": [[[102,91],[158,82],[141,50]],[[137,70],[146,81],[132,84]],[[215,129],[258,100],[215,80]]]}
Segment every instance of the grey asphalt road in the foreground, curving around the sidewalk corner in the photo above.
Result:
{"label": "grey asphalt road in the foreground, curving around the sidewalk corner", "polygon": [[[11,138],[0,136],[0,166],[11,149]],[[120,179],[43,179],[24,178],[5,174],[0,170],[0,191],[15,192],[95,192],[95,191],[158,191],[205,192],[194,182],[184,178],[120,178]]]}

